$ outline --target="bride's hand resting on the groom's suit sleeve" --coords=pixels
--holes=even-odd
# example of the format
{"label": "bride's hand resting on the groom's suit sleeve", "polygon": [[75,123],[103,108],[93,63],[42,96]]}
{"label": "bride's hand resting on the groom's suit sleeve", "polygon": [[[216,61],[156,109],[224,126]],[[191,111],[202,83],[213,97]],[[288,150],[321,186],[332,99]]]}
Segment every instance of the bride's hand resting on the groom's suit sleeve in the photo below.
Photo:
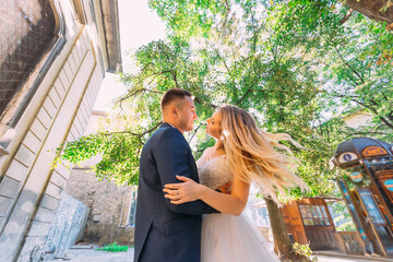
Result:
{"label": "bride's hand resting on the groom's suit sleeve", "polygon": [[166,193],[164,196],[170,199],[170,203],[182,204],[186,202],[199,200],[201,198],[203,191],[202,184],[188,177],[176,176],[176,178],[183,182],[167,183],[164,186],[163,190]]}

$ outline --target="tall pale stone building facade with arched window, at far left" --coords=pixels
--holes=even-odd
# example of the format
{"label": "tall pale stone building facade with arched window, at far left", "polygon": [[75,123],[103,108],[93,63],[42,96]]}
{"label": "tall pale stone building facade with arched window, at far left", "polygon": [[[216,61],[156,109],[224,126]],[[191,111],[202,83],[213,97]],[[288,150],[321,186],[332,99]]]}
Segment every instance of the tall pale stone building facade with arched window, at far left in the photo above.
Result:
{"label": "tall pale stone building facade with arched window, at far left", "polygon": [[45,245],[105,72],[121,70],[116,0],[1,1],[0,261]]}

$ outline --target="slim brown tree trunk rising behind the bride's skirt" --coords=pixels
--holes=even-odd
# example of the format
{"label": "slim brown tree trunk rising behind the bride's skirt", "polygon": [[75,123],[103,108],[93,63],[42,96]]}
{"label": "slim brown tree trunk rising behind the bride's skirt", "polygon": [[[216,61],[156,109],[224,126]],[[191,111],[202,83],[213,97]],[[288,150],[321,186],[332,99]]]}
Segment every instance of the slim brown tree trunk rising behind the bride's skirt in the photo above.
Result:
{"label": "slim brown tree trunk rising behind the bride's skirt", "polygon": [[273,200],[265,199],[265,202],[274,238],[274,251],[281,255],[281,260],[310,261],[306,257],[299,257],[291,252],[293,245],[290,242],[281,210]]}

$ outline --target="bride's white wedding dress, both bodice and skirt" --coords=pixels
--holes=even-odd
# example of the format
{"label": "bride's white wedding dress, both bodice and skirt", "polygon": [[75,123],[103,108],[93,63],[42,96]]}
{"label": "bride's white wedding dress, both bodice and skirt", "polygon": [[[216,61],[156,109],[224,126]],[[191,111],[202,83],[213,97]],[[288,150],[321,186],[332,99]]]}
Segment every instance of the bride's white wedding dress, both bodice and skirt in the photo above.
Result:
{"label": "bride's white wedding dress, both bodice and skirt", "polygon": [[[233,180],[225,155],[201,157],[196,162],[200,182],[216,189]],[[262,234],[241,214],[203,215],[201,238],[202,262],[279,262]]]}

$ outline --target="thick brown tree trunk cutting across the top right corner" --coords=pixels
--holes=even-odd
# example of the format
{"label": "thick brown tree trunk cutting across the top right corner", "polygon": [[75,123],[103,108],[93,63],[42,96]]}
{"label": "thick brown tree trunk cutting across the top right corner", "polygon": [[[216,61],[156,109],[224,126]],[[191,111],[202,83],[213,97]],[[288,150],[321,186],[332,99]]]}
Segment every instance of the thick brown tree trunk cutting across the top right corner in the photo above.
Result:
{"label": "thick brown tree trunk cutting across the top right corner", "polygon": [[389,7],[384,11],[389,0],[346,0],[348,8],[378,22],[393,23],[393,7]]}

